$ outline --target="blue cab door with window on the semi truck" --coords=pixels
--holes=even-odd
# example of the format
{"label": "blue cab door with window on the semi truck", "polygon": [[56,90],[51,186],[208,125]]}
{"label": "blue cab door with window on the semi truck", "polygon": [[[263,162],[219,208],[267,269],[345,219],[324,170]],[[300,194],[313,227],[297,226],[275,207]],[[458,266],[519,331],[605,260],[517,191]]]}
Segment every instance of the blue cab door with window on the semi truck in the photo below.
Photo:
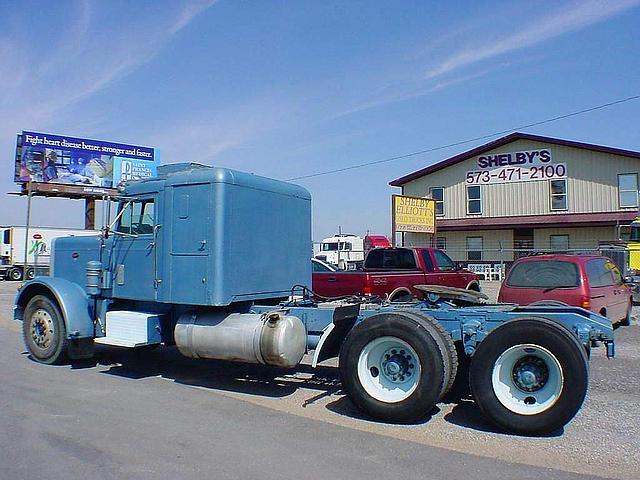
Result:
{"label": "blue cab door with window on the semi truck", "polygon": [[140,198],[121,206],[113,232],[111,271],[113,296],[154,301],[160,285],[158,252],[160,235],[155,198]]}

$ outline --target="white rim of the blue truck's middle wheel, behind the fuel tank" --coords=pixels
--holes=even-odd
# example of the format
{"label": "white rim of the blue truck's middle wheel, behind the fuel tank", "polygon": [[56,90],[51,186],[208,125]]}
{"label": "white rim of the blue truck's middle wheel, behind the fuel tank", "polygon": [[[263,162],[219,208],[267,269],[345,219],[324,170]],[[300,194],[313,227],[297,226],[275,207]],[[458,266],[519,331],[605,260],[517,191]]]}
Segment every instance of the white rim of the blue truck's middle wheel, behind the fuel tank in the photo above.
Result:
{"label": "white rim of the blue truck's middle wheel, behind the fuel tank", "polygon": [[358,379],[365,391],[384,403],[406,400],[418,387],[422,368],[416,351],[397,337],[378,337],[358,358]]}

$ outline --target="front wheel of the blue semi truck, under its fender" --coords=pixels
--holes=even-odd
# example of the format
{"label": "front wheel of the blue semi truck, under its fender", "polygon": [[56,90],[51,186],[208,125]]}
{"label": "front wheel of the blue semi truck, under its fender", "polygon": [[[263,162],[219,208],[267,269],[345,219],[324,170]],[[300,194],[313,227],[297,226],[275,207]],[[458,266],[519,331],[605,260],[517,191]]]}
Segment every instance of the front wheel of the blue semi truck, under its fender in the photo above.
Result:
{"label": "front wheel of the blue semi truck, under its fender", "polygon": [[27,304],[22,321],[24,343],[31,357],[46,364],[61,361],[67,349],[67,332],[58,306],[44,295]]}

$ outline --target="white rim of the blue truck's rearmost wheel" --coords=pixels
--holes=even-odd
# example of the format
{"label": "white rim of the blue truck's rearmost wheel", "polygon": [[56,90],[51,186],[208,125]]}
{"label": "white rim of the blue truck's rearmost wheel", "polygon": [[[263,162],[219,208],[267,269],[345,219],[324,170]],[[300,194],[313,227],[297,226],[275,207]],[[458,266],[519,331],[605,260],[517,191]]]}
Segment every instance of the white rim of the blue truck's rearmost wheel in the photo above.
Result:
{"label": "white rim of the blue truck's rearmost wheel", "polygon": [[539,345],[514,345],[496,360],[491,375],[498,401],[520,415],[549,410],[560,398],[564,374],[558,359]]}

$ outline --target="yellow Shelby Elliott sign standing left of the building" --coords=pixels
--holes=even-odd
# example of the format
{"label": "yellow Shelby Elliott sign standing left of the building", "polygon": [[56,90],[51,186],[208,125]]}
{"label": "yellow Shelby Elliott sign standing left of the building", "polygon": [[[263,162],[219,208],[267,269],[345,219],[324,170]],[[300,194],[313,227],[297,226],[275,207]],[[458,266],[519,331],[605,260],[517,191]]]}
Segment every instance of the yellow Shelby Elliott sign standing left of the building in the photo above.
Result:
{"label": "yellow Shelby Elliott sign standing left of the building", "polygon": [[395,232],[435,233],[436,201],[431,198],[391,196]]}

